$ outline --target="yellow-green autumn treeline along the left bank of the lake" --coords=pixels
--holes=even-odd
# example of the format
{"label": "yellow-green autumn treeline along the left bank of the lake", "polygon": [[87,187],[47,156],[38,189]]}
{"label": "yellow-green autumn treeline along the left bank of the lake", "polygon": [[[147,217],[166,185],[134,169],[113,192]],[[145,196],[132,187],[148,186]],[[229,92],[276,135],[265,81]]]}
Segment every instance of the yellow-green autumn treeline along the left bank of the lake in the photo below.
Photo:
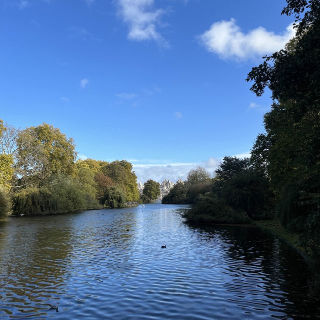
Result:
{"label": "yellow-green autumn treeline along the left bank of the lake", "polygon": [[0,215],[63,213],[137,202],[127,161],[76,160],[74,142],[43,123],[18,130],[0,120]]}

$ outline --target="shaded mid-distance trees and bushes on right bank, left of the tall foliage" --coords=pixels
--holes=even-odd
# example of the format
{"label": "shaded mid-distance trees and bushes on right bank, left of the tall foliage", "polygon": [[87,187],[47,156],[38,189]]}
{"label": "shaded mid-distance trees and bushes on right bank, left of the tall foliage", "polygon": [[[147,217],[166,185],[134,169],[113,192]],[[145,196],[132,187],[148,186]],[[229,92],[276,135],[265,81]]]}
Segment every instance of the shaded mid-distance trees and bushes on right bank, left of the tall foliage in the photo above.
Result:
{"label": "shaded mid-distance trees and bushes on right bank, left of the tall foliage", "polygon": [[204,168],[193,169],[162,203],[195,204],[184,214],[190,222],[244,223],[270,217],[272,194],[250,159],[224,157],[214,178]]}

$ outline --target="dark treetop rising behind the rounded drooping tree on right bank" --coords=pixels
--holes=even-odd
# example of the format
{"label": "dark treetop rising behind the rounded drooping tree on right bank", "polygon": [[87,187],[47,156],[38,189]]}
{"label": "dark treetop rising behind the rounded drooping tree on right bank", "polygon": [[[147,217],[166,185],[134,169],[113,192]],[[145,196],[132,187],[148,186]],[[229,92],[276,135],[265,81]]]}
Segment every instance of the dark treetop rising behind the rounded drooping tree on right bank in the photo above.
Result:
{"label": "dark treetop rising behind the rounded drooping tree on right bank", "polygon": [[240,172],[249,169],[250,160],[248,158],[223,157],[219,167],[215,170],[216,178],[227,181]]}

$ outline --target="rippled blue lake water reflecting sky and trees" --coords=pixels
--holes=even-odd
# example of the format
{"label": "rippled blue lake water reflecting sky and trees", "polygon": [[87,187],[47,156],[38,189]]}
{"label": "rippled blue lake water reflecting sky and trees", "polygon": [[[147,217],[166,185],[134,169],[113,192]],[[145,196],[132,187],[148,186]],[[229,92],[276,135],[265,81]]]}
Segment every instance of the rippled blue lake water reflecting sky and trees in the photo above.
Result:
{"label": "rippled blue lake water reflecting sky and trees", "polygon": [[287,245],[253,227],[190,227],[180,207],[1,222],[0,318],[319,317],[308,269]]}

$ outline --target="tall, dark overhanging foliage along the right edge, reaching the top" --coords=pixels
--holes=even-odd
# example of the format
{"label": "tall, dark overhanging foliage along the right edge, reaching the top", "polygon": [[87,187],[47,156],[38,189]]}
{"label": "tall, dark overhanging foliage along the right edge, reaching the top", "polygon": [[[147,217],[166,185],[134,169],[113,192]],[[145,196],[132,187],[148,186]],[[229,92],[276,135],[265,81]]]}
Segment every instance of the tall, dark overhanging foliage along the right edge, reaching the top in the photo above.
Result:
{"label": "tall, dark overhanging foliage along the right edge, reaching the top", "polygon": [[282,14],[295,16],[295,37],[247,78],[257,96],[268,87],[273,98],[252,163],[269,179],[283,226],[320,258],[320,3],[287,0]]}

